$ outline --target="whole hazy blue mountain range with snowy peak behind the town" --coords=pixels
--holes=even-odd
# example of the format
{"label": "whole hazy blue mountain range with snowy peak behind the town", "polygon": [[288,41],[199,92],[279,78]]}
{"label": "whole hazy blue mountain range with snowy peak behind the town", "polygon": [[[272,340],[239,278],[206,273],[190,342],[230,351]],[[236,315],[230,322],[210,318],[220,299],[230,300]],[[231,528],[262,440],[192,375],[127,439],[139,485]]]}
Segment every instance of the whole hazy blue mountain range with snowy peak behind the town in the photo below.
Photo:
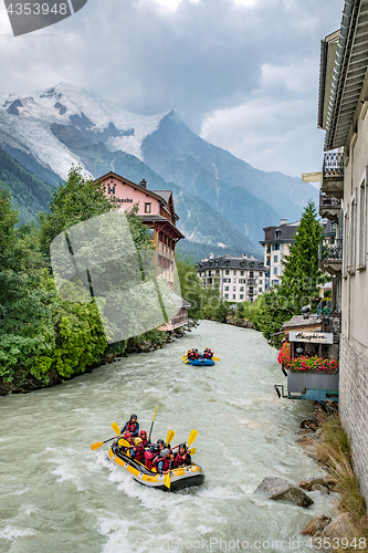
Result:
{"label": "whole hazy blue mountain range with snowy peak behind the town", "polygon": [[137,182],[145,178],[151,189],[171,188],[179,227],[196,242],[211,243],[209,228],[211,236],[217,232],[206,222],[209,213],[228,226],[214,241],[224,253],[222,244],[234,251],[241,241],[238,252],[260,253],[263,227],[297,220],[318,194],[297,178],[260,171],[209,144],[175,112],[133,114],[65,83],[29,96],[0,94],[0,146],[54,186],[80,164],[94,178],[114,170]]}

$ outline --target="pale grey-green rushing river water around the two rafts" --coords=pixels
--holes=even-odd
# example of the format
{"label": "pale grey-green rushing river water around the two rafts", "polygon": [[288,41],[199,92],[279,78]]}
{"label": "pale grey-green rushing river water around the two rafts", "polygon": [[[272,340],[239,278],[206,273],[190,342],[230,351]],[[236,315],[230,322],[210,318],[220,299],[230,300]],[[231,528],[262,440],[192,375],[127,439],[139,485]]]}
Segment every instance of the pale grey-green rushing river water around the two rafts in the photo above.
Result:
{"label": "pale grey-green rushing river water around the two rafts", "polygon": [[[185,365],[210,346],[214,367]],[[322,469],[295,444],[308,401],[277,399],[275,351],[260,333],[203,322],[182,340],[130,355],[70,383],[0,399],[0,552],[309,552],[301,529],[335,512],[312,492],[309,509],[254,494],[266,476],[297,482]],[[138,414],[153,437],[198,430],[193,461],[204,484],[178,493],[147,489],[107,459],[108,444]],[[274,543],[272,543],[274,542]]]}

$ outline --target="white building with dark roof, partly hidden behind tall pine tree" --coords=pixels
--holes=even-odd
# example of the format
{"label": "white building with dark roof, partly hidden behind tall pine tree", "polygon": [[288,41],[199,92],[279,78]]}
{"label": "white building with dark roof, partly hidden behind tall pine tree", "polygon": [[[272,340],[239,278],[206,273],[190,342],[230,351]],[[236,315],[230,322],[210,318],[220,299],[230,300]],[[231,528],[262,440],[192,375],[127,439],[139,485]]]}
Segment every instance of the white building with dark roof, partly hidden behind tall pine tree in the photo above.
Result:
{"label": "white building with dark roof, partly hidden behind tall pine tree", "polygon": [[264,267],[266,268],[266,289],[280,284],[283,275],[283,259],[290,254],[292,244],[295,242],[294,234],[298,222],[287,223],[287,219],[281,219],[278,227],[264,228],[264,240],[260,243],[264,248]]}

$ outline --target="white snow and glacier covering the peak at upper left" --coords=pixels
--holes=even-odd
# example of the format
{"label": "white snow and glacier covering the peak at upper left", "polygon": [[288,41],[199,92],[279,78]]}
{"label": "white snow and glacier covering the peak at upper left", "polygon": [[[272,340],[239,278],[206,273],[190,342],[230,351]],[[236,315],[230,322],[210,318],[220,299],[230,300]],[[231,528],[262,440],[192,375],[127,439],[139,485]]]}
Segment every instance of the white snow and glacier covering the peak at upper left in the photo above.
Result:
{"label": "white snow and glacier covering the peak at upper left", "polygon": [[143,140],[166,115],[136,115],[66,83],[31,96],[0,96],[0,127],[10,132],[13,145],[34,155],[62,178],[80,159],[59,140],[60,126],[75,127],[92,144],[102,142],[112,152],[127,152],[141,159]]}

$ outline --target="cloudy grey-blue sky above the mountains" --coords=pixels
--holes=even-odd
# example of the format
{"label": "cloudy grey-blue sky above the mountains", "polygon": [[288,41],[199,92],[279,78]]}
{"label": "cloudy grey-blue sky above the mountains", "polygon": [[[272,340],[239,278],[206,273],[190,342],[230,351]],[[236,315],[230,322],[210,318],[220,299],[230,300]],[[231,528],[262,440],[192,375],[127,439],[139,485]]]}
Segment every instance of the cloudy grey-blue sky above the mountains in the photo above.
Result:
{"label": "cloudy grey-blue sky above the mountains", "polygon": [[[67,1],[67,0],[66,0]],[[69,82],[126,109],[175,109],[254,167],[320,170],[319,42],[344,0],[88,0],[14,38],[0,0],[0,93]]]}

